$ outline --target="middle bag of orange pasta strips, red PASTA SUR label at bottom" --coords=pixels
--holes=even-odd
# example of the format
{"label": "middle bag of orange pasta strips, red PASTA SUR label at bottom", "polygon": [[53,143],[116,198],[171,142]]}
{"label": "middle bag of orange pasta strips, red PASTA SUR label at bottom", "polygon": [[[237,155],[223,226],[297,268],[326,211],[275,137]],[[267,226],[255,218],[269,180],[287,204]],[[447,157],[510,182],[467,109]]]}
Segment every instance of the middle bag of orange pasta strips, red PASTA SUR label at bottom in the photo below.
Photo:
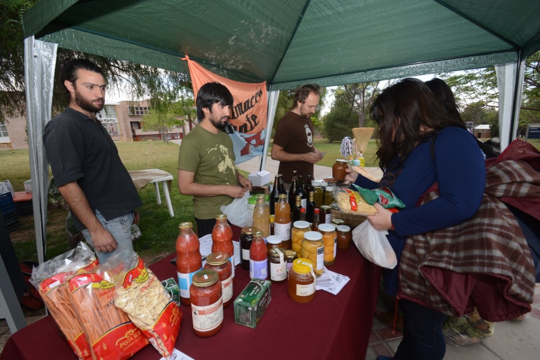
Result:
{"label": "middle bag of orange pasta strips, red PASTA SUR label at bottom", "polygon": [[124,311],[114,306],[114,284],[102,267],[71,277],[69,290],[94,360],[127,359],[148,345]]}

